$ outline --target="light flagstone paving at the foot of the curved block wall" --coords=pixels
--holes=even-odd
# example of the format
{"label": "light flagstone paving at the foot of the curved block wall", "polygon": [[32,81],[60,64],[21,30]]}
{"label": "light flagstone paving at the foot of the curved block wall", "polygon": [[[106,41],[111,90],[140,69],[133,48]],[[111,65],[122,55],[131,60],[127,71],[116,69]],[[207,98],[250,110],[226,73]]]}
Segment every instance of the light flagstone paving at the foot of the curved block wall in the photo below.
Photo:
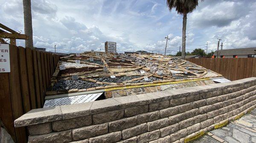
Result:
{"label": "light flagstone paving at the foot of the curved block wall", "polygon": [[192,143],[256,143],[256,109]]}

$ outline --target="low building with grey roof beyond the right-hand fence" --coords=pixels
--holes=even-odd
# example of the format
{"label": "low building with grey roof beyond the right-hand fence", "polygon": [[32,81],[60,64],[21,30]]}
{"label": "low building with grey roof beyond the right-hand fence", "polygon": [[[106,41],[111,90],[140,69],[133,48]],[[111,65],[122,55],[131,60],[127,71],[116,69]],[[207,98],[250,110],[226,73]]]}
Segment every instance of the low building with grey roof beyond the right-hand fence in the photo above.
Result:
{"label": "low building with grey roof beyond the right-hand fence", "polygon": [[[217,50],[213,54],[214,58],[217,57]],[[256,57],[256,48],[239,48],[219,50],[218,58],[254,58]]]}

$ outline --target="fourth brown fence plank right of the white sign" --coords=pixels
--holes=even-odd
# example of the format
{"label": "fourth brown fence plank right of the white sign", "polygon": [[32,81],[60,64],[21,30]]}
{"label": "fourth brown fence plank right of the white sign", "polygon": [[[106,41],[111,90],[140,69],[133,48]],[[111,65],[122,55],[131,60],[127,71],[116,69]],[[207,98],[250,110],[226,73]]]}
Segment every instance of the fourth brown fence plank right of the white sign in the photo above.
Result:
{"label": "fourth brown fence plank right of the white sign", "polygon": [[37,62],[37,53],[36,50],[32,50],[33,57],[33,70],[34,70],[34,83],[35,83],[35,97],[37,108],[41,108],[41,91],[40,91],[40,79],[38,74],[38,62]]}

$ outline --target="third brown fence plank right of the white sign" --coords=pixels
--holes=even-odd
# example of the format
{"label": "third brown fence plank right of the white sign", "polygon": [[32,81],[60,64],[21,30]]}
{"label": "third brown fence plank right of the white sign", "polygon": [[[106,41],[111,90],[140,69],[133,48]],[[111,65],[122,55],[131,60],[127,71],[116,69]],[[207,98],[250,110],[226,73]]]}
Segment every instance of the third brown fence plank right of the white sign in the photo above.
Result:
{"label": "third brown fence plank right of the white sign", "polygon": [[32,57],[32,49],[26,48],[26,68],[27,68],[27,77],[29,84],[29,95],[31,102],[31,109],[37,108],[37,101],[35,95],[35,83],[34,83],[34,67],[33,67],[33,57]]}

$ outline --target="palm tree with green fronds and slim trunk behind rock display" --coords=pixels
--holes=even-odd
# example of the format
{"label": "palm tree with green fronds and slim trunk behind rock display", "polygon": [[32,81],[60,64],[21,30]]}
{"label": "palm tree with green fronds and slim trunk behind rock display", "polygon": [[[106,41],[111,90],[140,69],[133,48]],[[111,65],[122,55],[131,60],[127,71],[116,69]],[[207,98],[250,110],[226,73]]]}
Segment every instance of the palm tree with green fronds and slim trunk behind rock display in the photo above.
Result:
{"label": "palm tree with green fronds and slim trunk behind rock display", "polygon": [[183,14],[181,58],[185,59],[187,14],[191,13],[198,6],[198,0],[166,0],[166,2],[170,11],[172,8],[175,8],[178,14]]}

